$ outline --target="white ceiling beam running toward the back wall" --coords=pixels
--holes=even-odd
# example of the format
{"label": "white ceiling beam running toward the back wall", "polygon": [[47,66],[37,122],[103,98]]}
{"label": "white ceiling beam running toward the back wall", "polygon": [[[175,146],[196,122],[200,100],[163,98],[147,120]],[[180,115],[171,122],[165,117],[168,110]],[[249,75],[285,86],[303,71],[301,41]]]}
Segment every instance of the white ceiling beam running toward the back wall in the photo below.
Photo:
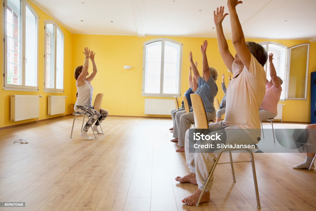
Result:
{"label": "white ceiling beam running toward the back wall", "polygon": [[145,37],[142,0],[130,0],[138,37]]}

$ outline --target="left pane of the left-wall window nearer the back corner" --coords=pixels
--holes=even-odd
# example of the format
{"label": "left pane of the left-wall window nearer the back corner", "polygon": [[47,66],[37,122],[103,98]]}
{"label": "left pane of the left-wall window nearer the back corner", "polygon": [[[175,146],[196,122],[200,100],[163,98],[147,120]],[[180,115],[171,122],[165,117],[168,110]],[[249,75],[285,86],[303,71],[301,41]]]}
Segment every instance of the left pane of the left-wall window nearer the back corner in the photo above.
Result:
{"label": "left pane of the left-wall window nearer the back corner", "polygon": [[46,88],[55,87],[54,24],[46,24]]}

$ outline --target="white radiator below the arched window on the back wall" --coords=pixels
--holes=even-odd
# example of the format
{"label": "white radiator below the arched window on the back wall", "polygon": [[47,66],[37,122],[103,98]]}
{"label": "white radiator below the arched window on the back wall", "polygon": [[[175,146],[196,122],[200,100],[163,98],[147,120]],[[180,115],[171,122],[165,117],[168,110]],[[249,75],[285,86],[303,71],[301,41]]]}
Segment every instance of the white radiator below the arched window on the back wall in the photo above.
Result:
{"label": "white radiator below the arched window on the back wall", "polygon": [[145,99],[145,114],[171,115],[174,99]]}

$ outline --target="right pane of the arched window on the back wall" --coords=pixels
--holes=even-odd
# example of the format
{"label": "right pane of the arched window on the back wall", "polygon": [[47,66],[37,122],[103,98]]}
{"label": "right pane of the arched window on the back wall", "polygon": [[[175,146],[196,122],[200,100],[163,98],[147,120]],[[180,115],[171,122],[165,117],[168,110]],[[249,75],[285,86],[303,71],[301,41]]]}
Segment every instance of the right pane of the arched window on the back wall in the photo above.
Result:
{"label": "right pane of the arched window on the back wall", "polygon": [[165,42],[163,93],[179,94],[180,46],[173,42]]}

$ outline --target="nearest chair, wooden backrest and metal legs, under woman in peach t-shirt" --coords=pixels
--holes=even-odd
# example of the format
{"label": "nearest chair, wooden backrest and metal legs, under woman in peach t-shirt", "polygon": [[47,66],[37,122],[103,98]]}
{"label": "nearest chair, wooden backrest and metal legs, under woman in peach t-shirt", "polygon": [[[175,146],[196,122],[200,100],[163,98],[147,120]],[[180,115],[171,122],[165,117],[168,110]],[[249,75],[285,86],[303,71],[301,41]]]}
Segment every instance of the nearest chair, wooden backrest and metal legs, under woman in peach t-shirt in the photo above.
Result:
{"label": "nearest chair, wooden backrest and metal legs, under woman in peach t-shirt", "polygon": [[[194,115],[194,123],[195,123],[195,127],[197,129],[208,129],[209,125],[208,125],[208,121],[207,121],[207,117],[206,117],[206,112],[205,112],[205,108],[204,108],[204,104],[203,101],[201,99],[201,97],[198,94],[191,94],[191,102],[192,102],[192,107],[194,107],[193,109],[193,115]],[[256,149],[258,149],[258,147],[256,147]],[[260,208],[260,199],[259,199],[259,191],[258,191],[258,182],[257,182],[257,175],[256,175],[256,167],[255,167],[255,163],[254,163],[254,157],[253,157],[253,153],[250,149],[243,149],[246,150],[250,153],[250,161],[236,161],[233,162],[233,157],[232,157],[232,152],[233,150],[241,150],[241,149],[226,149],[226,150],[222,150],[220,153],[218,153],[217,159],[210,171],[210,174],[204,184],[204,188],[201,192],[201,195],[197,201],[196,206],[198,207],[200,205],[200,202],[202,200],[202,197],[204,195],[205,189],[207,187],[207,185],[210,182],[210,178],[212,177],[214,170],[216,168],[216,165],[220,165],[220,164],[228,164],[230,163],[231,165],[231,169],[232,169],[232,174],[233,174],[233,182],[236,182],[236,178],[235,178],[235,172],[234,172],[234,164],[233,163],[244,163],[244,162],[251,162],[252,164],[252,174],[253,174],[253,180],[254,180],[254,184],[255,184],[255,192],[256,192],[256,198],[257,198],[257,208]],[[230,162],[227,163],[218,163],[221,155],[223,152],[229,152],[229,158],[230,158]]]}

